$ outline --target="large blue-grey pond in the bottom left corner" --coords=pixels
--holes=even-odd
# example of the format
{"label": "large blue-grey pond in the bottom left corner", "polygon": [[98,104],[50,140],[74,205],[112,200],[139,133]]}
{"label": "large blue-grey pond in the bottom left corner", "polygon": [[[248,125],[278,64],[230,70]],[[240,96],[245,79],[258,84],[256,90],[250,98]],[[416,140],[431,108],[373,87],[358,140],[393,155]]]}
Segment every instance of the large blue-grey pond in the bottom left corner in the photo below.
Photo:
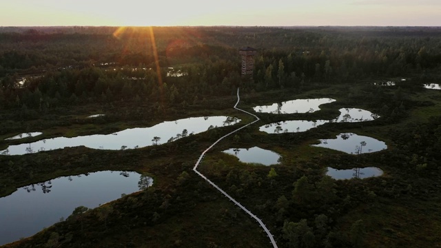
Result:
{"label": "large blue-grey pond in the bottom left corner", "polygon": [[152,185],[136,172],[94,172],[67,176],[17,189],[0,198],[0,245],[32,236],[68,218],[76,207],[103,203]]}

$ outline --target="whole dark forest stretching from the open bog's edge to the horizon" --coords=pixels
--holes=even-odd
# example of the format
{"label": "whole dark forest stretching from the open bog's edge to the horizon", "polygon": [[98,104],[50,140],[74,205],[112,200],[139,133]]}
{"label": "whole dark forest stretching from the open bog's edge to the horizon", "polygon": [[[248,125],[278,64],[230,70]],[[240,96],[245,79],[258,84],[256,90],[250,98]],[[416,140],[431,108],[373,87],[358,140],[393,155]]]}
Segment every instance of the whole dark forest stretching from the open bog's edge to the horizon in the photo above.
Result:
{"label": "whole dark forest stretching from the open bog's edge to the horizon", "polygon": [[[0,75],[4,76],[0,90],[2,105],[41,110],[60,101],[73,104],[95,99],[149,99],[154,103],[158,97],[168,105],[185,105],[196,96],[201,100],[213,94],[231,94],[232,87],[240,83],[237,50],[243,44],[253,45],[259,51],[255,57],[254,84],[245,86],[257,91],[411,73],[419,73],[420,81],[425,82],[439,78],[436,72],[441,66],[441,37],[415,37],[412,34],[420,34],[420,30],[404,28],[396,32],[103,29],[92,34],[81,29],[73,34],[37,30],[0,33],[4,44],[0,48]],[[438,30],[429,34],[435,31]],[[272,47],[275,43],[287,45]],[[157,75],[156,62],[162,68],[161,77]],[[167,77],[169,66],[178,66],[175,72],[184,76]],[[21,76],[17,73],[30,73],[30,78],[24,85],[18,85]],[[32,73],[41,77],[32,77]],[[162,82],[158,83],[159,78],[163,79],[165,89],[161,88]]]}

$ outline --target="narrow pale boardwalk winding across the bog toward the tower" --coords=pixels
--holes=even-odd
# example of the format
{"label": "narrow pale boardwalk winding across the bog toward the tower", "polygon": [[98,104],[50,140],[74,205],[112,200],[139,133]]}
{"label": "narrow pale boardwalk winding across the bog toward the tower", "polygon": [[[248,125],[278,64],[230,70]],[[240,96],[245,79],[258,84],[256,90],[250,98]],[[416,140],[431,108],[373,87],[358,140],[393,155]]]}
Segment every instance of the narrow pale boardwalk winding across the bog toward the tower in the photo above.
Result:
{"label": "narrow pale boardwalk winding across the bog toward the tower", "polygon": [[[238,105],[240,101],[239,98],[239,89],[237,89],[237,103],[236,105],[234,105],[234,108],[236,110],[240,110],[238,107],[236,107]],[[196,162],[196,165],[194,165],[193,167],[193,171],[196,172],[196,174],[198,174],[199,176],[201,176],[202,178],[204,178],[204,180],[206,180],[210,185],[212,185],[213,187],[215,187],[218,191],[220,191],[220,193],[222,193],[224,196],[227,196],[229,198],[229,200],[231,200],[234,204],[238,205],[238,207],[240,207],[241,209],[243,209],[243,211],[245,211],[247,214],[249,214],[249,216],[252,216],[252,218],[254,218],[259,224],[260,226],[263,228],[263,230],[267,233],[267,236],[269,237],[269,239],[271,240],[271,244],[273,245],[273,247],[277,248],[277,244],[276,244],[276,240],[274,240],[274,237],[271,235],[271,233],[269,232],[269,230],[267,229],[267,227],[265,227],[265,224],[263,224],[262,220],[260,220],[260,218],[258,218],[257,216],[255,216],[254,214],[252,214],[251,211],[249,211],[248,209],[246,209],[245,207],[243,207],[243,205],[241,205],[240,203],[238,203],[237,200],[234,200],[234,198],[232,198],[231,196],[229,196],[229,194],[227,194],[226,192],[224,192],[222,189],[220,189],[220,187],[218,187],[218,185],[215,185],[211,180],[209,180],[206,176],[204,176],[203,174],[201,174],[201,172],[198,172],[197,168],[198,165],[201,163],[202,159],[204,158],[205,154],[209,151],[209,149],[212,149],[212,147],[214,147],[214,145],[216,145],[219,141],[222,141],[223,138],[226,138],[227,136],[230,136],[232,134],[234,134],[235,132],[238,132],[239,130],[252,125],[254,123],[256,123],[257,121],[259,121],[260,119],[254,115],[251,114],[249,112],[246,112],[245,110],[240,110],[242,112],[245,112],[247,114],[250,114],[254,117],[256,117],[256,121],[253,121],[252,123],[249,123],[247,125],[244,125],[243,127],[238,128],[237,130],[234,130],[233,132],[230,132],[229,134],[223,136],[222,138],[219,138],[215,143],[213,143],[213,145],[211,145],[210,147],[208,147],[207,149],[205,149],[205,151],[201,154],[201,156],[199,157],[198,161]]]}

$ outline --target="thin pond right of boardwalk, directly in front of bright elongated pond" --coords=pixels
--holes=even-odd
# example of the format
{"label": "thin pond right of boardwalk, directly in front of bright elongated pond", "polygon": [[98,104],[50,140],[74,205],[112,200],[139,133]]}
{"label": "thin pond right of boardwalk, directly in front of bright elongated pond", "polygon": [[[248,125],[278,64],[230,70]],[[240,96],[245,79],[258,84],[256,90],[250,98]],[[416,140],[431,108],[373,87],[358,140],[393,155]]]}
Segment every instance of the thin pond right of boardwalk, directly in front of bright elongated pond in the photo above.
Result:
{"label": "thin pond right of boardwalk, directly in front of bright elongated pond", "polygon": [[323,125],[325,123],[329,123],[329,121],[280,121],[278,123],[271,123],[267,125],[263,125],[259,127],[259,131],[266,132],[268,134],[283,134],[287,132],[305,132],[310,130],[311,128],[318,127],[319,125]]}

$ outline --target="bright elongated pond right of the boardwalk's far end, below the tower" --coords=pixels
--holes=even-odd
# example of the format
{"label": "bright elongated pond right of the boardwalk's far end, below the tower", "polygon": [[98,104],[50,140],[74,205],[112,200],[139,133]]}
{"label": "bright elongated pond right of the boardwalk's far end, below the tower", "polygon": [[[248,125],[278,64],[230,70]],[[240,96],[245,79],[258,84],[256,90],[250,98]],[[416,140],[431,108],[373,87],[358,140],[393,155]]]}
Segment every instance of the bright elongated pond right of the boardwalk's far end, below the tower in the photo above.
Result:
{"label": "bright elongated pond right of the boardwalk's far end, below the tower", "polygon": [[271,114],[296,114],[296,113],[312,113],[320,110],[319,105],[332,103],[335,99],[297,99],[285,101],[282,103],[274,103],[272,105],[263,105],[253,107],[253,110],[260,113]]}

